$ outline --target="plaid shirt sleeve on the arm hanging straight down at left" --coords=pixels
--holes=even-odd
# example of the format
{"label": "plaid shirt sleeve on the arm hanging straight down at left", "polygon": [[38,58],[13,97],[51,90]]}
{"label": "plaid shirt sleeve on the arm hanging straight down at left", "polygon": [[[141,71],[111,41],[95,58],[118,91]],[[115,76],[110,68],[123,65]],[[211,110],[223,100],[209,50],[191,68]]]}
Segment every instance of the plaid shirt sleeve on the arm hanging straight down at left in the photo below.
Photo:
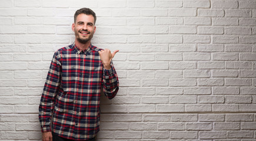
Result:
{"label": "plaid shirt sleeve on the arm hanging straight down at left", "polygon": [[42,92],[39,105],[39,121],[42,132],[51,131],[51,115],[54,108],[54,99],[58,91],[61,78],[61,63],[58,58],[58,53],[55,52],[49,67],[49,72]]}

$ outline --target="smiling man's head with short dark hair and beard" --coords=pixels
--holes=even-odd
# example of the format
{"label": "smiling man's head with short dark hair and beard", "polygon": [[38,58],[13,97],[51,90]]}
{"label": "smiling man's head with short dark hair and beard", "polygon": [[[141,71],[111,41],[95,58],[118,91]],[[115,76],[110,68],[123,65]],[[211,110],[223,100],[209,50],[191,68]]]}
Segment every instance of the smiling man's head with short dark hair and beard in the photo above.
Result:
{"label": "smiling man's head with short dark hair and beard", "polygon": [[89,8],[81,8],[74,15],[72,30],[75,32],[75,39],[79,43],[89,43],[96,31],[96,15]]}

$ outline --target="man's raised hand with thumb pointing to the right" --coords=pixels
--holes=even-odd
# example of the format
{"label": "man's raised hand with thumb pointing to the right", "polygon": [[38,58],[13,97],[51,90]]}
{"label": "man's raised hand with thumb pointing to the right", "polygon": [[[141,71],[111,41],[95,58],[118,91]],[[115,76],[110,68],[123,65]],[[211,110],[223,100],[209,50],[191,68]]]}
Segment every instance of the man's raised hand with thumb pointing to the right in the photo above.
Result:
{"label": "man's raised hand with thumb pointing to the right", "polygon": [[111,69],[111,66],[110,66],[111,60],[112,58],[114,58],[115,53],[119,52],[119,50],[116,50],[113,53],[111,53],[109,49],[104,49],[98,52],[99,52],[99,57],[101,58],[103,67],[105,69]]}

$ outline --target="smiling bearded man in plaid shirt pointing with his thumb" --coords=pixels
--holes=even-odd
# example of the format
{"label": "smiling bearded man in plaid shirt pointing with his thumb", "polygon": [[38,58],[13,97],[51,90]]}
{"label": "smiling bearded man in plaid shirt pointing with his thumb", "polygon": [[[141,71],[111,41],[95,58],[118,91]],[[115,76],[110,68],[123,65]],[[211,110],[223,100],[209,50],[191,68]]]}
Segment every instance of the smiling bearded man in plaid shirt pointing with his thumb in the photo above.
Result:
{"label": "smiling bearded man in plaid shirt pointing with his thumb", "polygon": [[118,77],[115,53],[91,44],[96,15],[81,8],[74,15],[73,45],[54,53],[39,105],[42,140],[94,140],[99,131],[101,88],[112,99]]}

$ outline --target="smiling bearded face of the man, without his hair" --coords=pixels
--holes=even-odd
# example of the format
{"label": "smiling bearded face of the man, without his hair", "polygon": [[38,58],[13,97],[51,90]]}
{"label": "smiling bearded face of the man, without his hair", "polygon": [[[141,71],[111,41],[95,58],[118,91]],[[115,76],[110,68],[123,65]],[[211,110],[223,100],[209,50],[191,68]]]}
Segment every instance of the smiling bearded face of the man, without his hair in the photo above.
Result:
{"label": "smiling bearded face of the man, without his hair", "polygon": [[80,43],[87,43],[91,41],[92,36],[96,31],[96,26],[94,25],[94,16],[79,14],[77,16],[77,21],[72,24],[72,30],[75,32],[75,39]]}

